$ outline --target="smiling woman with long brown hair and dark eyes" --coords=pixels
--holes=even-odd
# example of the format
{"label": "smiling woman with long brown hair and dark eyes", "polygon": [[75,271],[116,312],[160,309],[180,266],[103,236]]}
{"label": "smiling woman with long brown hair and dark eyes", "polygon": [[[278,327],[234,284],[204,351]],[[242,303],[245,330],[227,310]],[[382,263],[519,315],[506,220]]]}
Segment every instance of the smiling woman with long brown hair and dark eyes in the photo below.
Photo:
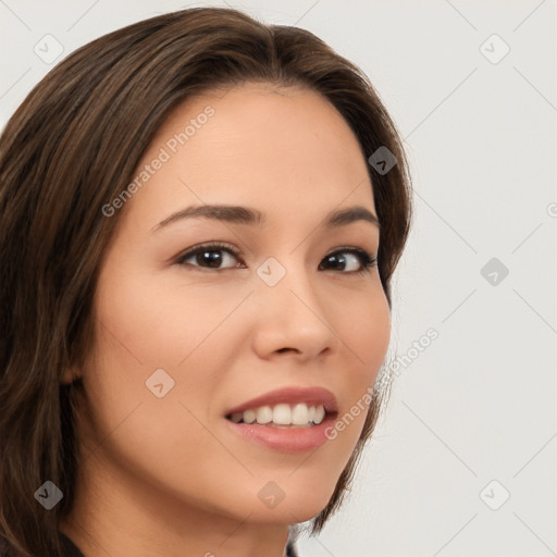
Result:
{"label": "smiling woman with long brown hair and dark eyes", "polygon": [[10,557],[294,556],[388,382],[396,128],[307,30],[196,8],[54,67],[0,141]]}

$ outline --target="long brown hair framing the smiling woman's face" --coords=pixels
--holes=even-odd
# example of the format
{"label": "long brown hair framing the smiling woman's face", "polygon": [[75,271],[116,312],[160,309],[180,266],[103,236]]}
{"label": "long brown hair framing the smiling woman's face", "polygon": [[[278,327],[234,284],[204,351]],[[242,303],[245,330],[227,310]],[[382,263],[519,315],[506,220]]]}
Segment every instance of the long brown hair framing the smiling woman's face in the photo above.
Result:
{"label": "long brown hair framing the smiling woman's face", "polygon": [[[33,89],[0,137],[0,540],[14,556],[62,556],[58,524],[76,478],[72,393],[83,385],[61,377],[83,364],[92,337],[99,263],[117,222],[101,208],[129,184],[174,107],[248,81],[321,94],[366,157],[383,146],[396,157],[387,173],[368,166],[391,308],[410,227],[410,176],[396,127],[357,66],[305,29],[221,8],[159,15],[79,48]],[[385,399],[385,389],[373,397],[312,533],[339,507]],[[51,510],[35,500],[47,480],[63,493]]]}

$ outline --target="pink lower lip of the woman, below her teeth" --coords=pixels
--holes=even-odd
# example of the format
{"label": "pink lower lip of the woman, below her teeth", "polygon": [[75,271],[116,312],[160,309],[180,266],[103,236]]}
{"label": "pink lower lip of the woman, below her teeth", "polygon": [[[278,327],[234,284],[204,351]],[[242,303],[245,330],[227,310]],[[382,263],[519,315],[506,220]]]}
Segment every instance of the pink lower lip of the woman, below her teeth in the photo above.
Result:
{"label": "pink lower lip of the woman, below her teeth", "polygon": [[311,428],[271,428],[258,423],[235,423],[231,420],[226,420],[226,423],[237,435],[268,448],[282,453],[305,453],[329,441],[325,430],[334,423],[334,416],[325,416],[320,424]]}

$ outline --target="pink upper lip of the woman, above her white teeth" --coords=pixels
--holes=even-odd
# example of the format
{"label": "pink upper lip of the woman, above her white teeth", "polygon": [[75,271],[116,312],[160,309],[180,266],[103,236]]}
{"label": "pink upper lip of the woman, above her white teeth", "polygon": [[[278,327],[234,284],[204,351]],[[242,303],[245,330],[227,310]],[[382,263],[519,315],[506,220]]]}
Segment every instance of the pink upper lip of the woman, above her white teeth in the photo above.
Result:
{"label": "pink upper lip of the woman, above her white teeth", "polygon": [[250,400],[246,400],[245,403],[226,410],[225,416],[244,412],[245,410],[259,408],[260,406],[278,405],[281,403],[306,403],[310,406],[322,405],[327,413],[338,411],[335,395],[326,388],[287,386],[276,391],[271,391],[264,395],[251,398]]}

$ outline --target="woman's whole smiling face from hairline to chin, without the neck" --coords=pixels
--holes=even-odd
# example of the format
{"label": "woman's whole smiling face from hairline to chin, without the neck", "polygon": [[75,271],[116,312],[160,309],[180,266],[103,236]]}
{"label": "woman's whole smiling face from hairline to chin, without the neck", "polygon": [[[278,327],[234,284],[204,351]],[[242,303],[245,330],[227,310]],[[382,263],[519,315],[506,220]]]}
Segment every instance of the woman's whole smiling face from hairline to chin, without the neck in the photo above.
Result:
{"label": "woman's whole smiling face from hairline to chin, without the neck", "polygon": [[[120,222],[82,370],[85,476],[163,509],[310,519],[366,412],[325,431],[367,410],[389,339],[377,268],[358,255],[376,256],[379,227],[364,211],[324,224],[376,215],[356,137],[314,92],[244,85],[180,106],[136,175],[107,216]],[[194,251],[209,243],[225,247]]]}

